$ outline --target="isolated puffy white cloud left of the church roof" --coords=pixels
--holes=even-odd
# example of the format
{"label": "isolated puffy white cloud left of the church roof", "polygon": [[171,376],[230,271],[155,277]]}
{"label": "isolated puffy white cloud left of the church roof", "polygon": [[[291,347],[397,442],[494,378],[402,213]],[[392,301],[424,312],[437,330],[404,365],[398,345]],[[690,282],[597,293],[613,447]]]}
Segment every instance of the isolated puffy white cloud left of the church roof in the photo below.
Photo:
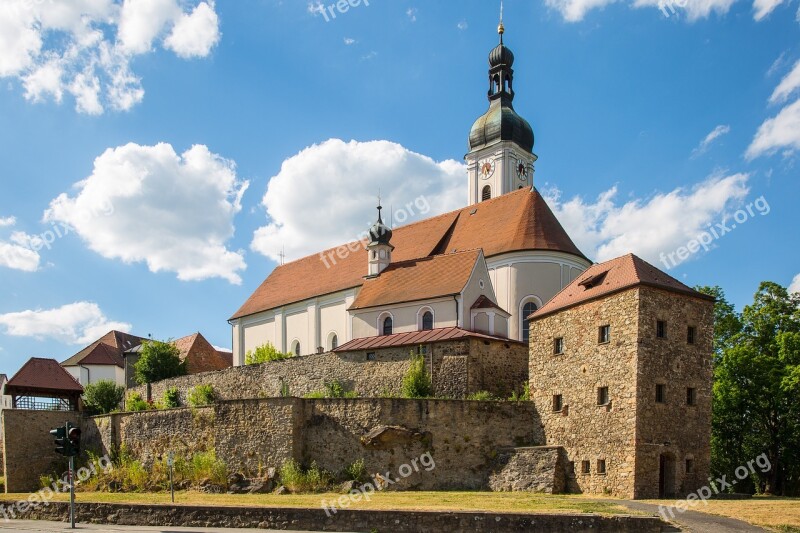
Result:
{"label": "isolated puffy white cloud left of the church roof", "polygon": [[54,199],[44,219],[69,224],[103,257],[146,262],[181,280],[238,284],[244,254],[226,243],[247,186],[232,161],[205,146],[178,156],[169,144],[131,143],[95,159],[77,195]]}

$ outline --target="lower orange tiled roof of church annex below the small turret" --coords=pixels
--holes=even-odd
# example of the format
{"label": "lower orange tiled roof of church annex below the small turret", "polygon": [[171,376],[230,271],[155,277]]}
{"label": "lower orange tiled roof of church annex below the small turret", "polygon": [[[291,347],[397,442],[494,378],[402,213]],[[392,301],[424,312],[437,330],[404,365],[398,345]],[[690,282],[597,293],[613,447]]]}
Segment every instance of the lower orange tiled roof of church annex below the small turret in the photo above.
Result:
{"label": "lower orange tiled roof of church annex below the small turret", "polygon": [[392,263],[364,282],[350,309],[460,294],[480,256],[480,250],[469,250]]}

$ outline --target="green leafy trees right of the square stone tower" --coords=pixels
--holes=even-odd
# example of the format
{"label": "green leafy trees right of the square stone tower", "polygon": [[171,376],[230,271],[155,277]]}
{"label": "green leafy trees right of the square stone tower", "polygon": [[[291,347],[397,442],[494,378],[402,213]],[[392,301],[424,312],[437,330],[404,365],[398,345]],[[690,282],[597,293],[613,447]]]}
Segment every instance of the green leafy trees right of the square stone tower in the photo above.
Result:
{"label": "green leafy trees right of the square stone tower", "polygon": [[[726,326],[715,328],[712,468],[733,478],[761,454],[750,488],[788,495],[800,488],[800,295],[763,282],[741,315],[717,302]],[[733,315],[733,316],[732,316]],[[734,478],[735,479],[735,478]],[[744,488],[744,482],[737,490]]]}

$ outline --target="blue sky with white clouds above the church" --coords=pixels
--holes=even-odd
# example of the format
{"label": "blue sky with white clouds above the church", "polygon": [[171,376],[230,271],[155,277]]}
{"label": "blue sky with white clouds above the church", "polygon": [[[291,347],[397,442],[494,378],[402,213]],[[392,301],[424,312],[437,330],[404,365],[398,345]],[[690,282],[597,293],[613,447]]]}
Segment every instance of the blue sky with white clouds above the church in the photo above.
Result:
{"label": "blue sky with white clouds above the church", "polygon": [[[506,0],[535,186],[596,261],[800,290],[796,0]],[[3,0],[0,372],[227,320],[281,261],[467,202],[499,2]],[[387,209],[389,210],[389,209]],[[366,269],[366,261],[365,261]]]}

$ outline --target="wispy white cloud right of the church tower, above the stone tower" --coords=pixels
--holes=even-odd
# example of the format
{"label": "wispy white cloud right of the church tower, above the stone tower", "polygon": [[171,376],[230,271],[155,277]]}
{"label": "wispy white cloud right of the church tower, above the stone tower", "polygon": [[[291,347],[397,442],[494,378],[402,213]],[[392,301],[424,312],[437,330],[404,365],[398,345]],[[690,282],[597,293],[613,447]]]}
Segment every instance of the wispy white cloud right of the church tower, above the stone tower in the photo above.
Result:
{"label": "wispy white cloud right of the church tower, above the stone tower", "polygon": [[648,199],[617,204],[617,188],[594,202],[580,197],[562,201],[557,189],[545,190],[548,204],[575,244],[589,257],[605,261],[635,253],[656,263],[720,222],[745,198],[747,174],[712,176],[690,190],[678,188]]}

